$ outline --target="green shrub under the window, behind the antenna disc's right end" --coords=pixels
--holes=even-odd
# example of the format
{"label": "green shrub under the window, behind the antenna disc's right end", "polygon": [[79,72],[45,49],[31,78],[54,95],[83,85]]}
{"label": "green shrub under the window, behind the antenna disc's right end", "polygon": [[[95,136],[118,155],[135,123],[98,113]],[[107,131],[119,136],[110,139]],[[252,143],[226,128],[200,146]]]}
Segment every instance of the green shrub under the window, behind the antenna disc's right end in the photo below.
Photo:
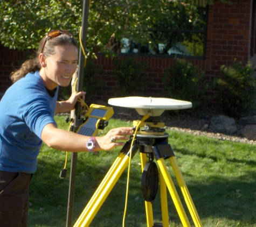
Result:
{"label": "green shrub under the window, behind the antenna disc's right end", "polygon": [[177,100],[192,102],[193,108],[205,104],[208,86],[205,74],[191,62],[174,59],[171,68],[163,75],[164,95]]}

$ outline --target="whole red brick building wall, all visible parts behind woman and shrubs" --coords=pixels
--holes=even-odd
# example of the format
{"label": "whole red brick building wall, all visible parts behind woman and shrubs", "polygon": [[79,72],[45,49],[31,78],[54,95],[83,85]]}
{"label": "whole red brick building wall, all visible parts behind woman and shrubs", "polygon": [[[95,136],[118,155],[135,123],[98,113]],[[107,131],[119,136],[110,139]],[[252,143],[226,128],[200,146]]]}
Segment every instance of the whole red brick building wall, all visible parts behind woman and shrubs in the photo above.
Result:
{"label": "whole red brick building wall, all visible parts behind woman and shrubs", "polygon": [[[193,65],[198,65],[205,70],[207,81],[218,76],[220,66],[230,65],[234,59],[244,64],[252,61],[255,65],[255,56],[250,55],[251,21],[255,18],[255,16],[252,17],[252,6],[255,7],[253,1],[255,0],[233,0],[232,5],[227,5],[216,0],[215,4],[209,6],[206,58],[204,60],[190,59]],[[0,93],[4,93],[11,85],[9,75],[13,70],[13,65],[24,58],[24,52],[10,50],[0,45]],[[137,57],[136,59],[148,62],[146,71],[148,80],[152,83],[142,88],[144,93],[147,96],[161,97],[163,73],[171,66],[173,59],[155,57]],[[114,97],[116,86],[113,76],[114,62],[99,54],[94,64],[103,67],[103,73],[96,75],[95,80],[102,80],[104,85],[96,89],[93,99],[108,100]]]}

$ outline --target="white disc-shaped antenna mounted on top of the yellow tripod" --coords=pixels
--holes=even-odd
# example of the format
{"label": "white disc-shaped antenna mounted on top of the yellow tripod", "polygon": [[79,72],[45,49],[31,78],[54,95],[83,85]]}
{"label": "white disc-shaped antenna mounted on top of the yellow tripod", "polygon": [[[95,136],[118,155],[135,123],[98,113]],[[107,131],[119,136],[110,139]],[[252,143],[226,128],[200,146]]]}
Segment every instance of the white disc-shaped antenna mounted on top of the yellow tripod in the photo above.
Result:
{"label": "white disc-shaped antenna mounted on top of the yellow tripod", "polygon": [[161,116],[164,110],[180,110],[192,107],[192,103],[188,101],[140,96],[109,98],[108,104],[117,107],[133,108],[139,115],[144,116],[148,114],[150,117]]}

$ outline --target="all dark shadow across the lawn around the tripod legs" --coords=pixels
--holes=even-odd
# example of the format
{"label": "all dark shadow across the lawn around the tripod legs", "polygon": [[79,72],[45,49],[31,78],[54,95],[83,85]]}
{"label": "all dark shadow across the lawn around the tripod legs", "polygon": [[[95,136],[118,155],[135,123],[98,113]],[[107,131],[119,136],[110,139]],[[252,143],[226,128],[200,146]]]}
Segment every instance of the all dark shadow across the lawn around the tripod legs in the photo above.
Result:
{"label": "all dark shadow across the lawn around the tripod legs", "polygon": [[[213,161],[218,160],[217,156],[195,154],[184,149],[177,152],[183,155],[198,155],[199,158],[207,157]],[[75,179],[74,221],[80,216],[114,161],[108,158],[106,153],[104,155],[106,155],[106,161],[103,163],[98,163],[98,157],[93,157],[93,154],[82,155],[78,160]],[[136,154],[136,156],[139,155]],[[253,165],[254,163],[246,159],[229,160],[227,158],[226,161],[243,162],[246,165]],[[131,169],[126,226],[146,226],[146,214],[140,183],[141,167],[137,165],[137,162],[140,162],[139,158],[135,158]],[[38,171],[34,175],[30,187],[30,201],[33,205],[30,208],[29,226],[65,226],[69,173],[65,179],[60,179],[59,171],[62,167],[63,162],[60,160],[53,161],[40,158]],[[170,173],[172,174],[171,170]],[[247,171],[243,175],[233,176],[229,179],[223,175],[207,176],[204,178],[203,174],[197,179],[193,174],[186,173],[183,174],[183,177],[202,222],[205,219],[225,217],[231,221],[245,223],[242,226],[256,224],[256,219],[253,215],[256,214],[255,181],[252,180],[256,179],[254,171]],[[172,179],[177,186],[175,178]],[[112,226],[121,226],[126,195],[126,181],[127,171],[124,171],[90,226],[108,227],[109,223]],[[183,196],[178,187],[177,190],[184,203]],[[175,224],[174,226],[179,226],[181,222],[169,195],[168,202],[170,221]],[[40,211],[40,208],[44,208],[44,210]],[[185,204],[184,208],[187,210]],[[159,193],[153,203],[153,210],[154,219],[161,221]],[[186,214],[190,218],[189,212],[186,212]]]}

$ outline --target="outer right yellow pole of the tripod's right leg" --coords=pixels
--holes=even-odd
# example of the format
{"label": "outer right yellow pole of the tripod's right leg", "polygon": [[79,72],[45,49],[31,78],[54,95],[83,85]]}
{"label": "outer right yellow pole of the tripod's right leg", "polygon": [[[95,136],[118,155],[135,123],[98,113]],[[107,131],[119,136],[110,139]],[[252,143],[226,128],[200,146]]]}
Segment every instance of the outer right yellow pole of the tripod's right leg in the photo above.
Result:
{"label": "outer right yellow pole of the tripod's right leg", "polygon": [[185,183],[185,181],[182,177],[182,173],[178,168],[178,164],[177,164],[177,161],[176,161],[175,157],[170,157],[169,161],[170,161],[172,169],[174,170],[174,174],[175,174],[176,179],[178,181],[179,187],[181,188],[182,194],[184,196],[186,205],[188,206],[188,209],[189,209],[189,212],[190,212],[191,217],[193,219],[193,222],[194,222],[196,227],[202,227],[203,225],[202,225],[202,223],[200,221],[200,218],[197,214],[197,210],[195,208],[195,205],[193,204],[192,198],[189,194],[189,190],[186,187],[186,183]]}

